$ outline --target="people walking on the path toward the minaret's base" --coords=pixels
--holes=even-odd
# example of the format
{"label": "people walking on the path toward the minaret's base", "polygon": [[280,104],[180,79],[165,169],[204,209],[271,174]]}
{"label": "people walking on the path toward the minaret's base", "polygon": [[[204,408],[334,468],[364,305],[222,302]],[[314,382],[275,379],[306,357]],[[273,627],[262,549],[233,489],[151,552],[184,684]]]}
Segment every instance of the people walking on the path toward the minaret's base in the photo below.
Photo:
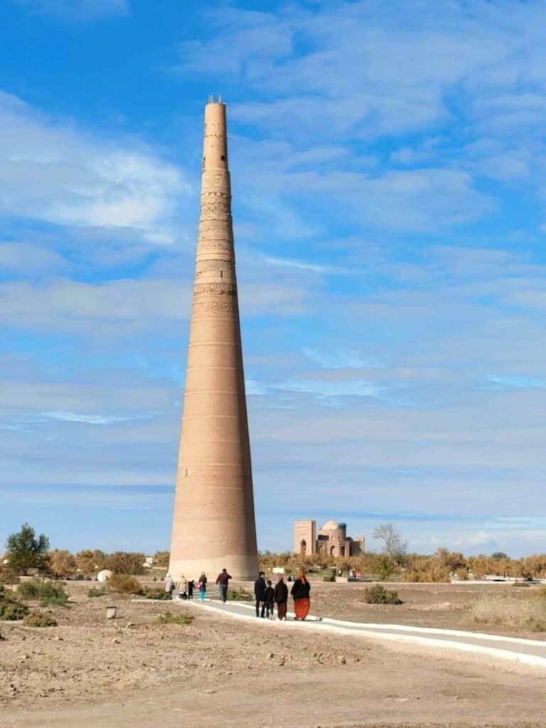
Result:
{"label": "people walking on the path toward the minaret's base", "polygon": [[[279,574],[277,583],[273,586],[271,579],[266,580],[264,571],[260,571],[258,579],[254,582],[254,596],[256,598],[256,617],[264,617],[268,620],[274,619],[275,605],[277,605],[277,619],[286,619],[286,610],[288,608],[288,585],[285,583],[282,574]],[[218,594],[222,604],[226,604],[227,593],[229,587],[229,579],[232,575],[228,574],[227,569],[222,569],[218,577],[216,577],[216,585],[218,585]],[[203,571],[197,583],[194,579],[186,579],[181,577],[178,585],[175,585],[173,577],[167,574],[165,577],[165,591],[175,598],[175,591],[178,591],[178,598],[193,599],[194,591],[199,592],[199,599],[205,601],[207,593],[207,575]],[[309,592],[311,585],[307,580],[303,571],[300,571],[298,578],[294,580],[290,595],[294,600],[294,612],[296,612],[296,620],[304,620],[309,614]]]}

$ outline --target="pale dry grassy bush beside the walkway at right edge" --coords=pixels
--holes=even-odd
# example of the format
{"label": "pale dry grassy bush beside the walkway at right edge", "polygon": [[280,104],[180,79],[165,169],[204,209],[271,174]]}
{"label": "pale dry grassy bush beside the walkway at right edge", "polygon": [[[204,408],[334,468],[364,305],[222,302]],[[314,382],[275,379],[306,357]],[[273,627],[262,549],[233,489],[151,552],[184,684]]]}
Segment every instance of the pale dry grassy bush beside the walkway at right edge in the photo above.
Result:
{"label": "pale dry grassy bush beside the walkway at right edge", "polygon": [[540,596],[518,599],[510,595],[484,595],[468,607],[468,617],[480,625],[544,632],[546,600]]}

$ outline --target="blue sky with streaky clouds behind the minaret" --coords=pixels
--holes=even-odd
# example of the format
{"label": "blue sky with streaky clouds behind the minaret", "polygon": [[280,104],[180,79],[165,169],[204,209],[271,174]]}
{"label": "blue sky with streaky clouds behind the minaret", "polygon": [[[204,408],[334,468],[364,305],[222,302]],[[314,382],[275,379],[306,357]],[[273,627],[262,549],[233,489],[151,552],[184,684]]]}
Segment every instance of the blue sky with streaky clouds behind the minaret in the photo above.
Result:
{"label": "blue sky with streaky clouds behind the minaret", "polygon": [[0,540],[168,547],[221,93],[260,547],[309,517],[543,551],[545,28],[532,0],[4,0]]}

